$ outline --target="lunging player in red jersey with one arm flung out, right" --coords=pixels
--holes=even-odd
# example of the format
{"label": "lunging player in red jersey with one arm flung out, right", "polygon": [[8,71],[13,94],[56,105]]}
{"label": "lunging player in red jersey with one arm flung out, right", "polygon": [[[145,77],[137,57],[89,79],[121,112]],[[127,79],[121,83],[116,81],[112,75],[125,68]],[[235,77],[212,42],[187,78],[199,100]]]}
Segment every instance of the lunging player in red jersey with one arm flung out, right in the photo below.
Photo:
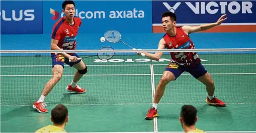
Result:
{"label": "lunging player in red jersey with one arm flung out, right", "polygon": [[[200,26],[176,26],[176,14],[173,12],[162,13],[162,27],[166,32],[158,43],[158,49],[195,49],[195,45],[189,37],[189,33],[207,30],[221,24],[227,19],[226,14],[222,15],[217,22],[203,24]],[[138,52],[140,54],[140,52]],[[148,53],[145,55],[152,60],[159,60],[163,52]],[[170,52],[172,59],[165,68],[163,75],[157,85],[153,105],[148,110],[146,119],[153,119],[157,114],[157,104],[159,103],[165,86],[170,81],[176,80],[184,71],[189,72],[197,80],[201,81],[208,92],[206,102],[215,106],[225,106],[226,104],[214,96],[215,86],[210,74],[201,64],[197,52]],[[188,84],[189,85],[189,84]]]}

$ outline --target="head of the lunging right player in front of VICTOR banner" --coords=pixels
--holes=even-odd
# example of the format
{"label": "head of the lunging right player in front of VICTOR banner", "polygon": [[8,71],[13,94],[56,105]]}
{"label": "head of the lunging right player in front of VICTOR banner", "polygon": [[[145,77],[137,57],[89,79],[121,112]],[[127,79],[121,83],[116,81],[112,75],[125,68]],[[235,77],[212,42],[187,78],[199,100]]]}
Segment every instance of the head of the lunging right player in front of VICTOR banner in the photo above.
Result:
{"label": "head of the lunging right player in front of VICTOR banner", "polygon": [[164,31],[173,29],[176,26],[176,14],[170,11],[162,13],[162,27]]}

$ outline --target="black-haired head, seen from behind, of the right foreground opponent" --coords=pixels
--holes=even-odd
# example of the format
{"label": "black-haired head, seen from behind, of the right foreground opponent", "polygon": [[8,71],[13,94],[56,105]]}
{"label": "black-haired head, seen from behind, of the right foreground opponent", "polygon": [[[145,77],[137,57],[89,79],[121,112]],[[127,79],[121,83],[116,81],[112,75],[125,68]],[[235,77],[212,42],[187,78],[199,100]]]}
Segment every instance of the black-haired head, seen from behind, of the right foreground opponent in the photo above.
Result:
{"label": "black-haired head, seen from behind, of the right foreground opponent", "polygon": [[182,127],[195,125],[197,122],[197,108],[193,105],[183,105],[181,114],[180,114],[180,122]]}

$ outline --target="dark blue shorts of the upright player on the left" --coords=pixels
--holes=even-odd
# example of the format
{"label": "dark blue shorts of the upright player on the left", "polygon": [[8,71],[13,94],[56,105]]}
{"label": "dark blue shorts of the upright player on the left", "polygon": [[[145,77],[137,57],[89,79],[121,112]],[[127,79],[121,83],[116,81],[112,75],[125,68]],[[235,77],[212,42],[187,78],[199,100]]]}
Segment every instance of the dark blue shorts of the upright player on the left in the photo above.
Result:
{"label": "dark blue shorts of the upright player on the left", "polygon": [[[79,57],[76,53],[72,53],[72,56]],[[52,67],[54,67],[55,64],[59,64],[59,65],[62,65],[62,67],[64,68],[64,63],[72,67],[74,64],[77,64],[81,61],[81,60],[77,60],[76,62],[69,62],[68,58],[60,54],[54,54],[54,53],[51,53],[51,57],[52,57]]]}

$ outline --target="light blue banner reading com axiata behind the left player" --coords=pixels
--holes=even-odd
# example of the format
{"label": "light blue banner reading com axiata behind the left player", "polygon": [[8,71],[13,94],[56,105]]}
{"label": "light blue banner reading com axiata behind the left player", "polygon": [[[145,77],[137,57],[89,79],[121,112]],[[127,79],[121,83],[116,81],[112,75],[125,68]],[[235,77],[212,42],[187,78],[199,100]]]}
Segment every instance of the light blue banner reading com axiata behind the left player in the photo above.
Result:
{"label": "light blue banner reading com axiata behind the left player", "polygon": [[[54,23],[64,14],[63,1],[43,1],[44,33],[51,33]],[[82,24],[79,33],[152,32],[151,1],[74,1],[75,15]]]}

